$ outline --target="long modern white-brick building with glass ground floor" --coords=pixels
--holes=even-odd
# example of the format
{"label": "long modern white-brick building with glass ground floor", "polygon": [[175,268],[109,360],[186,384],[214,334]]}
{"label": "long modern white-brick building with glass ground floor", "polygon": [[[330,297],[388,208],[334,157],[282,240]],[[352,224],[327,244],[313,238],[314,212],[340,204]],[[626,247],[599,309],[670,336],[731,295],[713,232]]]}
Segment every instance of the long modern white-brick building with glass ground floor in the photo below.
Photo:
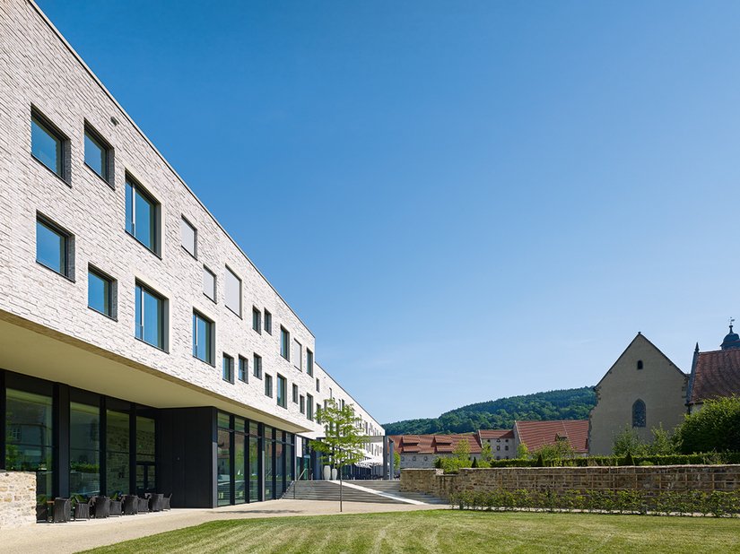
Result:
{"label": "long modern white-brick building with glass ground floor", "polygon": [[[39,495],[280,498],[318,472],[313,334],[39,7],[0,2],[0,461]],[[367,443],[381,463],[383,443]],[[302,473],[302,475],[300,475]]]}

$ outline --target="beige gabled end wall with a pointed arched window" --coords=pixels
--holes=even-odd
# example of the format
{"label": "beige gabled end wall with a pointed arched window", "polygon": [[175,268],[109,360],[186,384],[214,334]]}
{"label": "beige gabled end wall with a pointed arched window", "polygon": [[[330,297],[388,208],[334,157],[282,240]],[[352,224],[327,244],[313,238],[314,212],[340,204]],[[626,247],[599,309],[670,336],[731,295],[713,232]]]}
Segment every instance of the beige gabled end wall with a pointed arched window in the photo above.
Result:
{"label": "beige gabled end wall with a pointed arched window", "polygon": [[689,376],[638,333],[595,387],[588,453],[612,454],[614,437],[624,428],[646,442],[652,428],[675,428],[686,412],[688,385]]}

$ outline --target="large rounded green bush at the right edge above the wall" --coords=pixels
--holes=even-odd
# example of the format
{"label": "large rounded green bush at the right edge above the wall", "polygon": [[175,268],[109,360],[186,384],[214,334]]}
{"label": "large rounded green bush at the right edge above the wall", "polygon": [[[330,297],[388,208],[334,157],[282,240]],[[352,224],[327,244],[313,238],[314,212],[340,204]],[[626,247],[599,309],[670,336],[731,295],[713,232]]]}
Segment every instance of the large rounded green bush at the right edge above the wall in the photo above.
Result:
{"label": "large rounded green bush at the right edge above the wall", "polygon": [[704,403],[676,429],[675,442],[683,454],[740,452],[740,397]]}

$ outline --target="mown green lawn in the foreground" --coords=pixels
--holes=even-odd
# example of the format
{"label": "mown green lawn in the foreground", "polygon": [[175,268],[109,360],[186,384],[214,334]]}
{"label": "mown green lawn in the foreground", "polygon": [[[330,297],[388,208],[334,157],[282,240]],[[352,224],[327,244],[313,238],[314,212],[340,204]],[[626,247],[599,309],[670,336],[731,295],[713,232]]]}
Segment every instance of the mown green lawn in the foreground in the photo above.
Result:
{"label": "mown green lawn in the foreground", "polygon": [[94,552],[740,552],[740,519],[434,510],[212,522]]}

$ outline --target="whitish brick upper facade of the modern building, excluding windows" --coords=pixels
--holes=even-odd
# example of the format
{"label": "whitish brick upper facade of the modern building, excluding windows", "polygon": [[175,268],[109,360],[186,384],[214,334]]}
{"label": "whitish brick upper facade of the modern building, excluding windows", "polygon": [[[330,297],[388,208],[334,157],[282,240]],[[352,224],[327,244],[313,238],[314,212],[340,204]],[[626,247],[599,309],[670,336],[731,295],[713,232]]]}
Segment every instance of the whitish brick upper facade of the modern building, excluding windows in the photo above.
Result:
{"label": "whitish brick upper facade of the modern building, excluding windows", "polygon": [[[292,385],[320,405],[331,390],[355,405],[373,434],[384,434],[318,364],[309,375],[307,349],[317,351],[308,327],[35,4],[0,3],[0,76],[0,331],[6,337],[0,351],[8,353],[11,341],[33,345],[44,337],[49,356],[57,346],[65,352],[46,359],[53,364],[42,363],[43,348],[0,354],[0,367],[155,407],[213,405],[309,437],[320,436],[322,427],[292,402]],[[30,155],[31,107],[68,138],[67,182]],[[110,184],[84,164],[86,122],[113,149]],[[161,204],[161,256],[126,232],[126,174]],[[38,213],[74,236],[71,279],[36,262]],[[197,258],[181,246],[182,217],[197,230]],[[89,265],[116,280],[116,319],[88,307]],[[215,302],[203,292],[204,265],[216,275]],[[242,282],[241,317],[224,303],[227,266]],[[167,299],[165,351],[134,336],[137,281]],[[252,307],[272,314],[272,334],[252,329]],[[193,357],[194,310],[215,323],[213,366]],[[302,345],[302,370],[280,354],[281,326]],[[222,379],[223,353],[234,359],[233,384]],[[263,374],[273,377],[272,397],[264,379],[254,377],[255,353]],[[239,356],[248,359],[247,383],[238,379]],[[275,400],[278,374],[287,379],[286,408]]]}

